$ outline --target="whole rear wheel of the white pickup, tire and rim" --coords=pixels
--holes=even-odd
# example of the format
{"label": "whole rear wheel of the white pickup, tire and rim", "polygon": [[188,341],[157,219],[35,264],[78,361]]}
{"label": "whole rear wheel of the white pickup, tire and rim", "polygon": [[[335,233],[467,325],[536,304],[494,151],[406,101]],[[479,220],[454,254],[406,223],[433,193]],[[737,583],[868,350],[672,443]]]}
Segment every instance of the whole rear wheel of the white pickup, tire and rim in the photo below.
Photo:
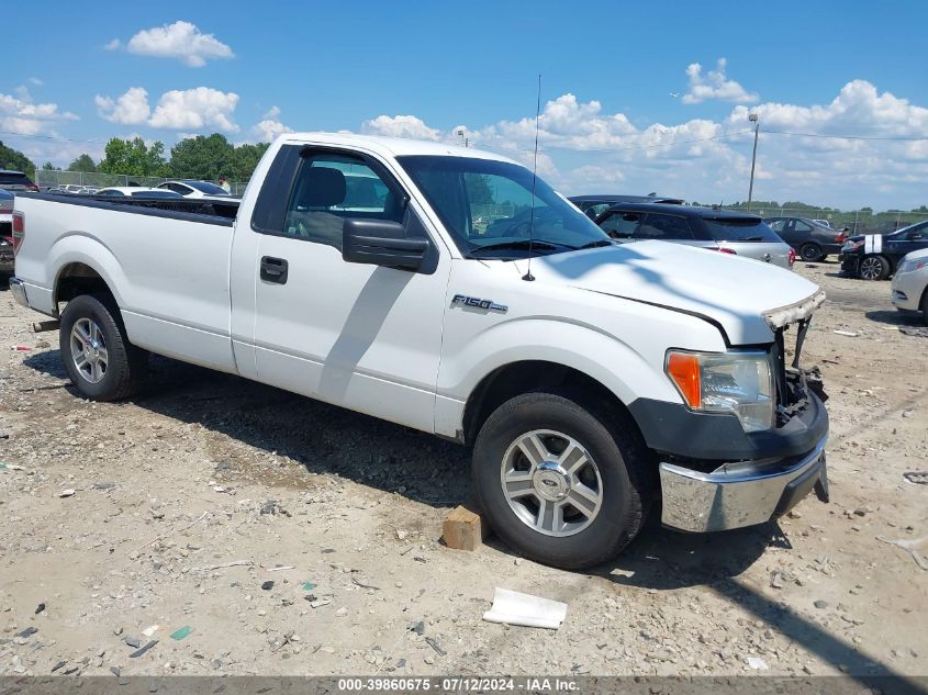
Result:
{"label": "whole rear wheel of the white pickup, tire and rim", "polygon": [[110,298],[83,294],[68,302],[58,339],[65,369],[81,395],[118,401],[137,390],[148,354],[128,343]]}

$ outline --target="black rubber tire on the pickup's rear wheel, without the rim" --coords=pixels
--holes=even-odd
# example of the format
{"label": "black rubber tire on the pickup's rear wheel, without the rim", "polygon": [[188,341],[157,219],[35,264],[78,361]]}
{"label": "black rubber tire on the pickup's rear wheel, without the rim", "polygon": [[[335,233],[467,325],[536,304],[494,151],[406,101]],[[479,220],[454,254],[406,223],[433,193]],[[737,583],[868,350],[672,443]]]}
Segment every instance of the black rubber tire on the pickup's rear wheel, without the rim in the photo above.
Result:
{"label": "black rubber tire on the pickup's rear wheel, without the rim", "polygon": [[[107,351],[105,369],[97,382],[81,371],[71,352],[75,324],[90,321],[99,327]],[[119,307],[109,296],[82,294],[72,299],[62,312],[58,341],[65,370],[81,395],[92,401],[119,401],[138,390],[145,374],[148,354],[125,337],[125,325]]]}

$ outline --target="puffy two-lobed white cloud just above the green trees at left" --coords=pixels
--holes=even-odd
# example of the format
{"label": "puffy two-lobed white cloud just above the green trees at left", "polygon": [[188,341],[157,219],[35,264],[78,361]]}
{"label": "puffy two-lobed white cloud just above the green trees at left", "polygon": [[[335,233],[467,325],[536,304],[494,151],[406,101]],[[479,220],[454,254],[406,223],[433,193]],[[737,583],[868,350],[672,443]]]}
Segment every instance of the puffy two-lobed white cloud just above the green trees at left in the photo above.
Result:
{"label": "puffy two-lobed white cloud just above the green trees at left", "polygon": [[233,121],[238,94],[210,87],[165,92],[154,110],[148,104],[148,92],[142,87],[132,87],[115,100],[97,94],[93,101],[100,117],[112,123],[144,123],[157,128],[219,128],[227,133],[238,132],[238,126]]}

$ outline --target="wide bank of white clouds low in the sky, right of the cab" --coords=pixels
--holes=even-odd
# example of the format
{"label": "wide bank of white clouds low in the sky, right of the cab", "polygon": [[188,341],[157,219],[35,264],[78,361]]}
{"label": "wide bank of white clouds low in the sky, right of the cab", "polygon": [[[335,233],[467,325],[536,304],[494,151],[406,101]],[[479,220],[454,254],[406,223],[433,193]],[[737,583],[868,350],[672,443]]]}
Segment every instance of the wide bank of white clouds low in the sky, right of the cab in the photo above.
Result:
{"label": "wide bank of white clouds low in the sky, right of the cab", "polygon": [[[539,117],[538,172],[567,193],[658,191],[701,202],[743,200],[751,165],[750,112],[759,114],[761,124],[756,200],[846,209],[928,204],[928,109],[864,80],[848,82],[821,104],[736,105],[717,121],[675,124],[636,125],[623,113],[604,112],[595,100],[562,94],[545,103]],[[415,115],[380,115],[361,130],[451,144],[461,142],[457,131],[463,130],[472,147],[528,167],[533,162],[534,114],[448,131]],[[839,135],[921,139],[834,138]]]}

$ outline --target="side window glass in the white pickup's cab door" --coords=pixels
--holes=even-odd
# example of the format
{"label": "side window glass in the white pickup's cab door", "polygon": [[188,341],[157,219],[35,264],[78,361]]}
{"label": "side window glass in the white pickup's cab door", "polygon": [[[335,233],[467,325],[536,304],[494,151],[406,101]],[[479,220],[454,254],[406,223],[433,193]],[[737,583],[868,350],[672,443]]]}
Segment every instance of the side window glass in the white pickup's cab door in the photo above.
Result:
{"label": "side window glass in the white pickup's cab door", "polygon": [[304,153],[289,191],[279,232],[342,249],[346,217],[403,221],[403,199],[360,157]]}

